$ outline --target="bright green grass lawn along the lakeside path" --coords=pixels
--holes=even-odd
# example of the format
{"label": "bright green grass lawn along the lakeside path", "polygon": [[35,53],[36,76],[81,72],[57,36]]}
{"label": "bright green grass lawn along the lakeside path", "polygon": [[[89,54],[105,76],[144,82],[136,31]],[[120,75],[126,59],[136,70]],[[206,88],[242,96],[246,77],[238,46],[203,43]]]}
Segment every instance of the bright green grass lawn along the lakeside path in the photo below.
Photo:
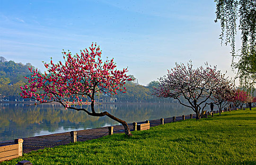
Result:
{"label": "bright green grass lawn along the lakeside path", "polygon": [[224,112],[97,140],[45,148],[15,165],[256,165],[256,111]]}

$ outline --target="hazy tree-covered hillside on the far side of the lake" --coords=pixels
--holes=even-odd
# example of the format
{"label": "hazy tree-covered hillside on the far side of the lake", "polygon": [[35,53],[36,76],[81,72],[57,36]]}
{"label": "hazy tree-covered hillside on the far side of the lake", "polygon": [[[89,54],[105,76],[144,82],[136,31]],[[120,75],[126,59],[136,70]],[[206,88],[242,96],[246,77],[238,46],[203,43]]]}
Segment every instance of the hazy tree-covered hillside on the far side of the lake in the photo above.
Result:
{"label": "hazy tree-covered hillside on the far side of the lake", "polygon": [[[26,65],[7,61],[0,57],[0,99],[15,101],[20,99],[20,86],[24,85],[24,76],[30,76],[28,67],[34,67],[30,63]],[[35,68],[35,67],[34,67]],[[136,79],[135,77],[133,79]],[[152,82],[151,82],[152,83]],[[125,84],[126,93],[119,92],[114,97],[118,102],[173,102],[173,99],[160,99],[153,96],[153,89],[150,86],[142,86],[134,82]]]}

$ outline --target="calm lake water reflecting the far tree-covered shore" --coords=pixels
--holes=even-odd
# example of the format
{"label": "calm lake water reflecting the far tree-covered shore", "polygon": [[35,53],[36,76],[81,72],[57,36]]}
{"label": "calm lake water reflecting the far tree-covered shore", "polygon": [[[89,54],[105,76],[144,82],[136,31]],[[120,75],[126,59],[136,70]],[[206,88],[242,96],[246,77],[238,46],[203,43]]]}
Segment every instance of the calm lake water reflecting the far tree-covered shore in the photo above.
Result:
{"label": "calm lake water reflecting the far tree-covered shore", "polygon": [[[65,110],[59,104],[0,104],[0,141],[53,133],[78,131],[117,125],[104,117],[89,116],[83,111]],[[90,111],[90,106],[83,106]],[[194,112],[178,103],[170,104],[102,104],[96,111],[107,111],[127,123],[188,115]]]}

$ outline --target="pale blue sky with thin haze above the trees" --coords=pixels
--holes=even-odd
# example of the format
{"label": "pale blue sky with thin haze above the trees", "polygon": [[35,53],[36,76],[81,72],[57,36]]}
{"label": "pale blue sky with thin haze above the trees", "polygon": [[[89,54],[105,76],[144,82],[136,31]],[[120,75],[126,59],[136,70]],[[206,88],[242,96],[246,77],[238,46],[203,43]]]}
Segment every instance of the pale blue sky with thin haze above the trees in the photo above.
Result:
{"label": "pale blue sky with thin haze above the trees", "polygon": [[62,60],[97,42],[103,59],[128,66],[140,84],[175,62],[217,65],[230,77],[230,47],[219,39],[214,0],[0,0],[0,56],[31,63]]}

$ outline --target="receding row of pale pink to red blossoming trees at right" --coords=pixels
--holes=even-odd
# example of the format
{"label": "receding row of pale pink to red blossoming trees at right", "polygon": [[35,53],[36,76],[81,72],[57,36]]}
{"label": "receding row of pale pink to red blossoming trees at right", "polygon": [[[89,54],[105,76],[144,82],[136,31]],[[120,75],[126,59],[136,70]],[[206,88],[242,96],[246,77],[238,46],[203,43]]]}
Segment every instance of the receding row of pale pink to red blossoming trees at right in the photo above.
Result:
{"label": "receding row of pale pink to red blossoming trees at right", "polygon": [[176,67],[168,70],[168,74],[159,81],[160,85],[155,88],[154,94],[161,98],[177,99],[183,106],[193,109],[196,119],[201,118],[204,108],[211,101],[219,110],[230,102],[235,107],[253,102],[253,97],[245,91],[235,90],[234,81],[225,78],[225,74],[221,74],[216,66],[212,67],[207,63],[205,67],[196,69],[193,68],[192,61],[187,66],[176,63]]}

